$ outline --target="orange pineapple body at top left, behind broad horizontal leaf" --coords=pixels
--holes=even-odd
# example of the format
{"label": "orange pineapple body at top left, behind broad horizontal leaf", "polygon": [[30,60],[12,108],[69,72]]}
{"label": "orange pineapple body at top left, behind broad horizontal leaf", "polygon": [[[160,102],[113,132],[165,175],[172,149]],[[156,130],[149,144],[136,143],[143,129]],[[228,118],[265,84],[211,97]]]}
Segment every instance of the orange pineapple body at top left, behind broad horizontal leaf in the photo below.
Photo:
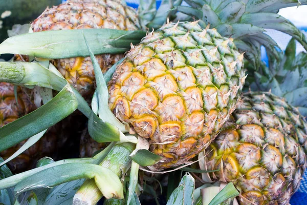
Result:
{"label": "orange pineapple body at top left, behind broad horizontal leaf", "polygon": [[[47,8],[34,20],[31,27],[34,32],[91,28],[141,29],[135,10],[123,6],[120,0],[71,0],[59,6]],[[103,72],[122,57],[122,54],[96,55]],[[93,94],[95,74],[91,57],[54,59],[52,62],[83,97]]]}

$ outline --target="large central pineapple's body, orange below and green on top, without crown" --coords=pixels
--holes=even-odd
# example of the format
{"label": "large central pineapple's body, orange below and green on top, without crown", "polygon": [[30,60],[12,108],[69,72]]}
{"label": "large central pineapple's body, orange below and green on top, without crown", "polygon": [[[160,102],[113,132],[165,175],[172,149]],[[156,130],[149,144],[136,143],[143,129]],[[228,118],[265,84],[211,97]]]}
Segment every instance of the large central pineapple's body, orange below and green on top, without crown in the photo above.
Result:
{"label": "large central pineapple's body, orange below and green on top, without crown", "polygon": [[163,157],[150,169],[166,169],[209,146],[244,79],[231,38],[198,22],[168,23],[127,52],[108,84],[109,108]]}

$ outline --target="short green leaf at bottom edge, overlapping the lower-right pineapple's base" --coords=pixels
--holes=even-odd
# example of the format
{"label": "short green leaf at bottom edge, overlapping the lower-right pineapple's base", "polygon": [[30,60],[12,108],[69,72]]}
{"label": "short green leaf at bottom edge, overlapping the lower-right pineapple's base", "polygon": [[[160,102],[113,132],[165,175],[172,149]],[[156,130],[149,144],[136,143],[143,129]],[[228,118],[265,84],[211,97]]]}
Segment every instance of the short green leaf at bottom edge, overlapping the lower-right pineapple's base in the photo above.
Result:
{"label": "short green leaf at bottom edge, overlapping the lower-right pineapple's base", "polygon": [[210,201],[209,205],[218,205],[223,201],[236,197],[239,195],[239,192],[233,186],[233,183],[230,182],[224,189],[222,189],[218,194]]}

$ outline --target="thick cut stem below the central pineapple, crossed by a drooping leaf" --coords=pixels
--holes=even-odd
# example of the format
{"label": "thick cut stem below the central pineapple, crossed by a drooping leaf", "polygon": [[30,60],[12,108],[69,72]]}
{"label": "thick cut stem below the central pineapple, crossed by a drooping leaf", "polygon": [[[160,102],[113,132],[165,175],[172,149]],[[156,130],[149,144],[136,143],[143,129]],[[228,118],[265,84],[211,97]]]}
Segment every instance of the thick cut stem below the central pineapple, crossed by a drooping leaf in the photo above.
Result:
{"label": "thick cut stem below the central pineapple, crossed by a drooping leaf", "polygon": [[[100,165],[113,171],[121,178],[131,166],[131,158],[129,155],[135,147],[135,144],[128,142],[116,144],[101,161]],[[102,193],[96,186],[95,180],[87,179],[76,192],[73,204],[96,204],[102,196]]]}

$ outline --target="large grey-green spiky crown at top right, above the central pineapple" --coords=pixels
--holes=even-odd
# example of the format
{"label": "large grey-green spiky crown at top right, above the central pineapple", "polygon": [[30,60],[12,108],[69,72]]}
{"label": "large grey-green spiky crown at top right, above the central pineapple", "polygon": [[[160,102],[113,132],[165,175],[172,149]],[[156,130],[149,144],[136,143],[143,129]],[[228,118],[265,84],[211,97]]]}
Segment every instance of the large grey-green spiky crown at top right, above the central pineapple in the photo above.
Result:
{"label": "large grey-green spiky crown at top right, above the central pineapple", "polygon": [[[222,36],[234,38],[238,49],[255,68],[260,66],[260,46],[280,61],[280,48],[275,40],[264,33],[274,29],[293,36],[306,49],[305,36],[289,20],[277,14],[278,10],[289,6],[307,4],[306,0],[185,0],[189,6],[177,6],[179,18],[200,19],[199,24],[206,28],[216,28]],[[181,14],[180,14],[181,13]],[[186,14],[182,17],[182,14]]]}

